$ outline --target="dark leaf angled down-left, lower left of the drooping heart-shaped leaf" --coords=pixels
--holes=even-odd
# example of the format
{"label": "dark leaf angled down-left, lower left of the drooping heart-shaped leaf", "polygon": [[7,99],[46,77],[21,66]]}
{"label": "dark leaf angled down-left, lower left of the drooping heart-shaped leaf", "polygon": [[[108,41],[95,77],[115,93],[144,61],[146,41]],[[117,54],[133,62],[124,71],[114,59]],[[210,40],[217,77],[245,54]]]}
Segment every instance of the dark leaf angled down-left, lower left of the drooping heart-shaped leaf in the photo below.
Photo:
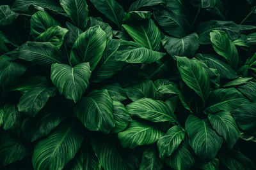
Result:
{"label": "dark leaf angled down-left, lower left of the drooping heart-shaped leaf", "polygon": [[49,97],[55,96],[55,91],[54,87],[40,83],[20,97],[17,107],[20,112],[35,117],[38,111],[44,108]]}

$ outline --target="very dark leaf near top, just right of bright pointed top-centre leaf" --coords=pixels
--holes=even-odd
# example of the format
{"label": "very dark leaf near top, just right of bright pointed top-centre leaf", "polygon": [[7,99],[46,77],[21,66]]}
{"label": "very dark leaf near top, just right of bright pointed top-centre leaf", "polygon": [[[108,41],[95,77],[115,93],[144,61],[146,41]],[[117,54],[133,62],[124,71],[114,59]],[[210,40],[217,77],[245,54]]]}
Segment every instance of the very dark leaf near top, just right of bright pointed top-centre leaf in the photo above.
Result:
{"label": "very dark leaf near top, just right of bright pointed top-centre leaf", "polygon": [[170,36],[183,38],[189,33],[190,25],[188,21],[166,8],[156,8],[154,10],[154,17],[157,24]]}

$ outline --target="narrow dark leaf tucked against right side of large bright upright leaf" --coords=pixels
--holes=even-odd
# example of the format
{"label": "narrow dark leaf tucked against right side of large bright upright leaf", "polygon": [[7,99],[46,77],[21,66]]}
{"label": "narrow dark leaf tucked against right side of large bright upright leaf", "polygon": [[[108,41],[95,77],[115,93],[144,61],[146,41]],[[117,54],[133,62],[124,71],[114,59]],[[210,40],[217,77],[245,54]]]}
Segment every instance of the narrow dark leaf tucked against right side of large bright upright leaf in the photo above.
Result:
{"label": "narrow dark leaf tucked against right side of large bright upright leaf", "polygon": [[118,50],[122,40],[109,39],[107,41],[106,50],[103,53],[102,59],[95,68],[93,74],[93,82],[100,82],[113,76],[117,71],[120,71],[124,63],[115,60],[115,53]]}

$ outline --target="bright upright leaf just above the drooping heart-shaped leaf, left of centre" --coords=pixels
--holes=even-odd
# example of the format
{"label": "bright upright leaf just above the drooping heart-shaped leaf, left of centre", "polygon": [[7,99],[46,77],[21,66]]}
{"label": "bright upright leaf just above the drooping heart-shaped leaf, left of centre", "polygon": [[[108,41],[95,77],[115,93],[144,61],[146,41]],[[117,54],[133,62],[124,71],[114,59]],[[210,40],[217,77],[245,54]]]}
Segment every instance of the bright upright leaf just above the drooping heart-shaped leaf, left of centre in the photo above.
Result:
{"label": "bright upright leaf just above the drooping heart-shaped leaf, left of centre", "polygon": [[99,25],[90,27],[80,34],[72,46],[70,62],[76,66],[81,62],[90,62],[91,70],[97,66],[106,48],[106,33]]}

